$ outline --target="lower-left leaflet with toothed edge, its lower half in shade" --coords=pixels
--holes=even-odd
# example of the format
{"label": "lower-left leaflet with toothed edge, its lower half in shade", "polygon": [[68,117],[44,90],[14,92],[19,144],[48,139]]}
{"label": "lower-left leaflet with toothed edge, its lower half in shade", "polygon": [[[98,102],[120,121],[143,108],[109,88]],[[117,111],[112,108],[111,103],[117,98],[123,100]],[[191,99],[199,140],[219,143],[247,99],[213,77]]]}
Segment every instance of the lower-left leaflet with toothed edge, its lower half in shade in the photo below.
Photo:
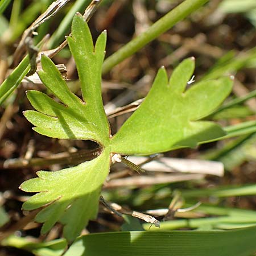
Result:
{"label": "lower-left leaflet with toothed edge, its lower half in shade", "polygon": [[38,177],[20,185],[23,191],[40,192],[23,204],[24,210],[51,203],[35,219],[44,222],[42,233],[59,221],[64,224],[65,238],[73,241],[89,219],[96,217],[101,187],[109,172],[109,153],[109,148],[105,148],[96,159],[79,166],[56,172],[39,171]]}

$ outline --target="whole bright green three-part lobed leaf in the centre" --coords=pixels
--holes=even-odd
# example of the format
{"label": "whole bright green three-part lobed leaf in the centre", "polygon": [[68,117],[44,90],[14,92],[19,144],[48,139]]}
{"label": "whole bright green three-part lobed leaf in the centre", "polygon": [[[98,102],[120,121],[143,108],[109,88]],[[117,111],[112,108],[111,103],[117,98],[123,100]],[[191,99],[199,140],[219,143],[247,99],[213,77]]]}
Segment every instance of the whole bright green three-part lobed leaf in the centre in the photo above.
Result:
{"label": "whole bright green three-part lobed leaf in the centre", "polygon": [[[199,121],[217,108],[232,89],[228,77],[203,81],[184,92],[194,71],[194,59],[184,60],[168,81],[161,68],[143,104],[112,137],[101,97],[101,70],[106,32],[94,46],[88,25],[75,15],[68,44],[76,61],[82,100],[69,90],[55,64],[42,56],[40,79],[57,102],[42,92],[30,90],[28,100],[36,111],[24,112],[34,130],[52,138],[92,140],[102,147],[101,155],[79,166],[56,172],[39,171],[20,188],[39,192],[23,209],[45,207],[36,216],[46,233],[57,221],[64,224],[69,242],[79,236],[89,219],[95,218],[102,184],[108,175],[111,156],[152,154],[177,147],[195,147],[199,142],[225,135],[214,122]],[[111,139],[110,139],[111,138]]]}

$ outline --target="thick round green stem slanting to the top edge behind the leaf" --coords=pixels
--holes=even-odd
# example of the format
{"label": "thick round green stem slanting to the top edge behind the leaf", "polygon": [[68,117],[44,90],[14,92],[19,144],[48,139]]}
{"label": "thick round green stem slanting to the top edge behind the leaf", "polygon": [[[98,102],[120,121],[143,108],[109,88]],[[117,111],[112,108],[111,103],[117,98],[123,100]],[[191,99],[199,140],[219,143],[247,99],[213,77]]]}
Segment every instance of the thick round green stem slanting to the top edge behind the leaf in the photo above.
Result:
{"label": "thick round green stem slanting to the top edge behind the leaf", "polygon": [[170,30],[177,22],[187,17],[193,11],[199,9],[204,3],[209,0],[185,0],[175,9],[160,18],[157,22],[152,24],[147,31],[139,35],[137,38],[131,40],[113,55],[108,57],[104,61],[102,73],[105,74],[112,69],[118,63],[125,60],[127,57],[133,55],[133,53],[139,51],[142,47],[146,46],[149,42],[163,34],[167,30]]}

